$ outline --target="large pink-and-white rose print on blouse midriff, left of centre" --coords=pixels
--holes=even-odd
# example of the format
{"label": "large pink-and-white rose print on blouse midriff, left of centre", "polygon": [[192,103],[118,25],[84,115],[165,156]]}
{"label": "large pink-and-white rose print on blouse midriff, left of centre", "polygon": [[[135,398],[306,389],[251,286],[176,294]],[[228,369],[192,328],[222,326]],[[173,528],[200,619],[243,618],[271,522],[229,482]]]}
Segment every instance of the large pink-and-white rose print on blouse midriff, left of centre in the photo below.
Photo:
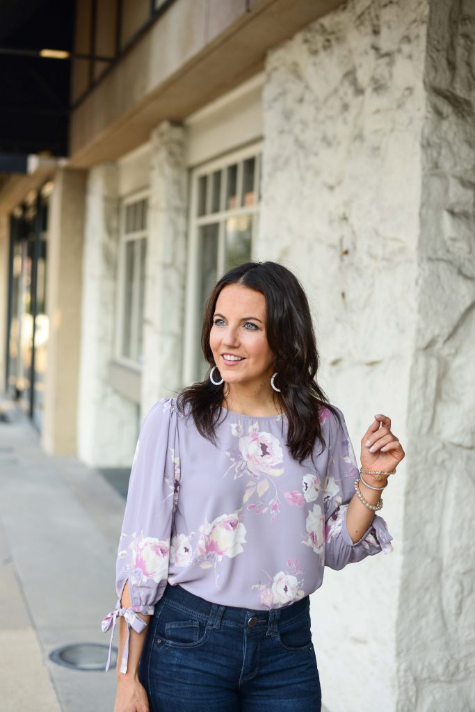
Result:
{"label": "large pink-and-white rose print on blouse midriff, left of centre", "polygon": [[197,553],[200,556],[215,554],[219,558],[233,558],[244,551],[241,544],[246,543],[246,527],[239,521],[236,512],[222,514],[212,522],[206,521],[199,531],[201,537],[197,543]]}

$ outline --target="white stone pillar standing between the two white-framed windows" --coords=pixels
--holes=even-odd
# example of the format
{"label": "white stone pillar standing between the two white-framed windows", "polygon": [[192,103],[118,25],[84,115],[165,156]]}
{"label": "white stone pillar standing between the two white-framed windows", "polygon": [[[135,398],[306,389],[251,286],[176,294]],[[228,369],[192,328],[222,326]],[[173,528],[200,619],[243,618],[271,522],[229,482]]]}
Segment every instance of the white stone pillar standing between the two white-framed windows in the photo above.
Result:
{"label": "white stone pillar standing between the two white-framed windows", "polygon": [[187,169],[184,128],[164,121],[150,137],[142,417],[182,388]]}

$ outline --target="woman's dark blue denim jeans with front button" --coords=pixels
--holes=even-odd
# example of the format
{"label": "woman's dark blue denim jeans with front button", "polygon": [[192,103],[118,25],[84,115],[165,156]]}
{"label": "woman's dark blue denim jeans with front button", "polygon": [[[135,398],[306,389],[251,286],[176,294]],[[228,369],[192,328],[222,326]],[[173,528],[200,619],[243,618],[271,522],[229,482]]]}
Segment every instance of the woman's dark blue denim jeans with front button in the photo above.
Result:
{"label": "woman's dark blue denim jeans with front button", "polygon": [[167,584],[139,676],[151,712],[320,712],[308,596],[270,611]]}

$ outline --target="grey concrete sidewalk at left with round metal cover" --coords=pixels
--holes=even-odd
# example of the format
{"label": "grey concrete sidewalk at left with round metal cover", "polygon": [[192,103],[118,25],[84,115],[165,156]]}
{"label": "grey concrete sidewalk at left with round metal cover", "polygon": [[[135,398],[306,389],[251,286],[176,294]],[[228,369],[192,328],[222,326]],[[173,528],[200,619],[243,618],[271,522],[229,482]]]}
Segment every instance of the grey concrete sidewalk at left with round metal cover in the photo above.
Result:
{"label": "grey concrete sidewalk at left with round metal cover", "polygon": [[12,412],[0,422],[1,710],[112,712],[115,669],[76,671],[48,655],[108,644],[100,623],[115,607],[125,502],[77,459],[44,454],[28,419]]}

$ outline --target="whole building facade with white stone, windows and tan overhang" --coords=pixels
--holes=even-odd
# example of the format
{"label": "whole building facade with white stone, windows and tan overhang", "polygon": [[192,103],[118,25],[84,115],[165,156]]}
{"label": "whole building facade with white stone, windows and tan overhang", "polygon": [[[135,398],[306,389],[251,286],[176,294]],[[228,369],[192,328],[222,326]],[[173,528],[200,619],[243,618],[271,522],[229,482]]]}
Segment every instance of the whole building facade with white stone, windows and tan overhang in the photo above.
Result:
{"label": "whole building facade with white stone, windows and tan overhang", "polygon": [[1,377],[51,454],[128,466],[250,258],[306,288],[356,451],[390,414],[395,552],[312,597],[330,712],[475,708],[474,37],[469,0],[80,3],[114,59],[75,59],[68,157],[0,191]]}

